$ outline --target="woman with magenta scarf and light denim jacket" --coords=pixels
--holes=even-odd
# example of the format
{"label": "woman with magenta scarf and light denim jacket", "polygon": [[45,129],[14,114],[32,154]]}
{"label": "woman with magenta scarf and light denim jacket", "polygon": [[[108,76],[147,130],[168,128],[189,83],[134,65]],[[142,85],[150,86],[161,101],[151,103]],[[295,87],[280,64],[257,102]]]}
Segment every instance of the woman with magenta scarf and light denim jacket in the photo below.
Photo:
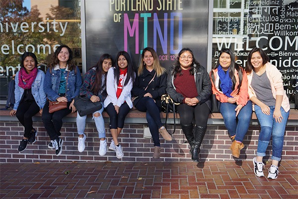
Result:
{"label": "woman with magenta scarf and light denim jacket", "polygon": [[42,109],[46,102],[43,90],[45,73],[37,69],[36,56],[31,52],[24,52],[21,59],[21,69],[15,75],[15,104],[10,115],[16,115],[24,126],[24,136],[18,151],[24,151],[27,143],[34,143],[37,131],[33,128],[32,116]]}

